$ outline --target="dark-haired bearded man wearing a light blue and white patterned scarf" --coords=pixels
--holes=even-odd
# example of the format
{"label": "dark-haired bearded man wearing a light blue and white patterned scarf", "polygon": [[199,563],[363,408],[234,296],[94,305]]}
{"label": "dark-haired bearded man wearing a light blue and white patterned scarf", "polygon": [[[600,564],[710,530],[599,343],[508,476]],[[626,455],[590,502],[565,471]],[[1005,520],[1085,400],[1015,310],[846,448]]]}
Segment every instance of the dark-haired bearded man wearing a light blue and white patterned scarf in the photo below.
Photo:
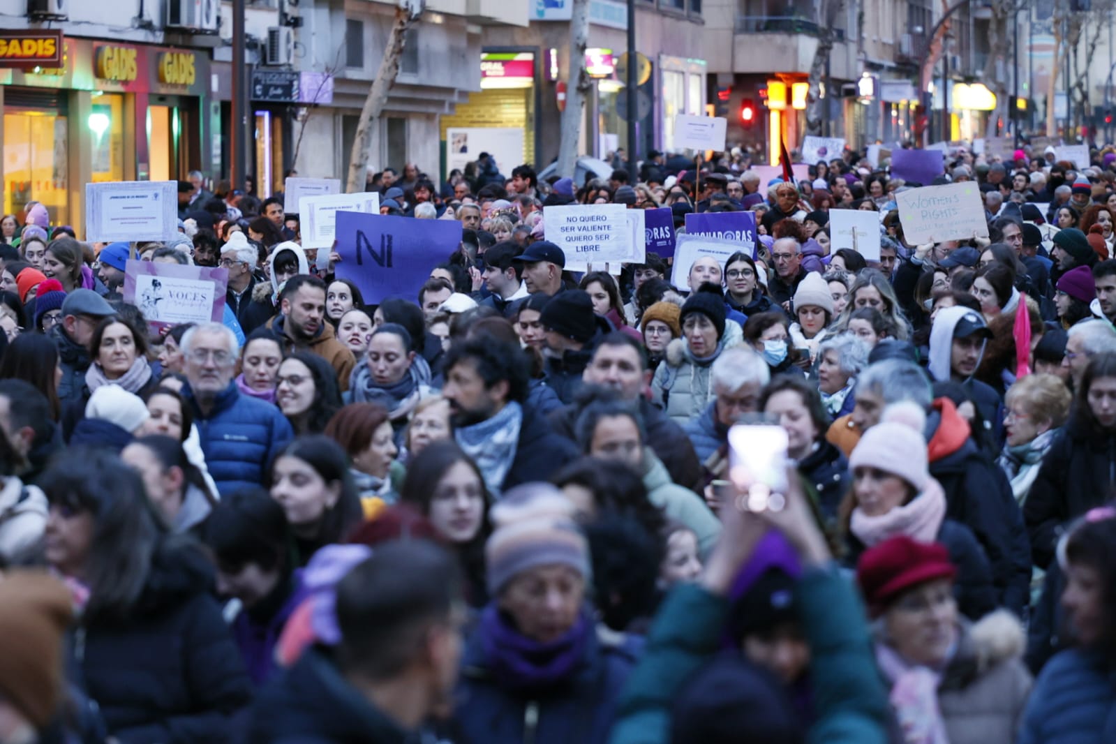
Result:
{"label": "dark-haired bearded man wearing a light blue and white patterned scarf", "polygon": [[527,358],[512,344],[479,334],[450,347],[442,395],[450,402],[454,438],[473,458],[493,497],[530,481],[546,481],[577,458],[527,405]]}

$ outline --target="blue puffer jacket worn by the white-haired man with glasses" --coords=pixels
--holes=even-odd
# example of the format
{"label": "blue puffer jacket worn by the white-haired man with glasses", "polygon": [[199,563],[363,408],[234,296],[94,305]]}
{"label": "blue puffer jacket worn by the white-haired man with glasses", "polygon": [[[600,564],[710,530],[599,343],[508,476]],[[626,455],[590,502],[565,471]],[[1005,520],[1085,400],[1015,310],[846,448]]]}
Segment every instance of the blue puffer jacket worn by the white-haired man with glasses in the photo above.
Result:
{"label": "blue puffer jacket worn by the white-haired man with glasses", "polygon": [[295,436],[278,408],[241,395],[235,383],[218,395],[208,415],[189,384],[182,396],[193,409],[205,463],[222,497],[263,483],[268,465]]}

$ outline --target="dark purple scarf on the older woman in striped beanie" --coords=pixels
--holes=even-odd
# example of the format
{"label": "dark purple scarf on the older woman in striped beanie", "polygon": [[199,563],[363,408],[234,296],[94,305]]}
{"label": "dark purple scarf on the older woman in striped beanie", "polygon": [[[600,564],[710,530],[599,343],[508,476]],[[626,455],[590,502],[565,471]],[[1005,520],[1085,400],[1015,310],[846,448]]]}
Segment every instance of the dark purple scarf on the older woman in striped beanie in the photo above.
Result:
{"label": "dark purple scarf on the older woman in striped beanie", "polygon": [[585,657],[594,626],[583,612],[561,638],[540,644],[512,628],[493,602],[481,613],[478,632],[499,684],[510,690],[535,693],[573,676]]}

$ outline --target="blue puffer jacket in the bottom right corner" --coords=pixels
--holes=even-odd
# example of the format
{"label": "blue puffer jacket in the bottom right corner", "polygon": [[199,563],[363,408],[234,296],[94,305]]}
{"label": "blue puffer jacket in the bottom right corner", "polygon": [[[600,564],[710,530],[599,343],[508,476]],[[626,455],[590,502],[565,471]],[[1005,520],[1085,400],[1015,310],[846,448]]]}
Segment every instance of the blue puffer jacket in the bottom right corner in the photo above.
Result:
{"label": "blue puffer jacket in the bottom right corner", "polygon": [[1116,742],[1116,685],[1099,654],[1061,651],[1042,668],[1017,744]]}

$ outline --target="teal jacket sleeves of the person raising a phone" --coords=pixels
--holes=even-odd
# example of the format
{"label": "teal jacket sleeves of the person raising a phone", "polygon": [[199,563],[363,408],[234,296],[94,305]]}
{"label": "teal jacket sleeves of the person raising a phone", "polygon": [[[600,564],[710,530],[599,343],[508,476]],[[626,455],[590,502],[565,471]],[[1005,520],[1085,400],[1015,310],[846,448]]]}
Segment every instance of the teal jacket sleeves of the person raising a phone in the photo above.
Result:
{"label": "teal jacket sleeves of the person raising a phone", "polygon": [[[876,670],[864,608],[835,570],[811,568],[799,582],[810,646],[817,721],[809,744],[886,744],[887,690]],[[721,649],[728,600],[696,584],[672,590],[655,618],[643,659],[628,678],[609,744],[665,744],[675,693]]]}

